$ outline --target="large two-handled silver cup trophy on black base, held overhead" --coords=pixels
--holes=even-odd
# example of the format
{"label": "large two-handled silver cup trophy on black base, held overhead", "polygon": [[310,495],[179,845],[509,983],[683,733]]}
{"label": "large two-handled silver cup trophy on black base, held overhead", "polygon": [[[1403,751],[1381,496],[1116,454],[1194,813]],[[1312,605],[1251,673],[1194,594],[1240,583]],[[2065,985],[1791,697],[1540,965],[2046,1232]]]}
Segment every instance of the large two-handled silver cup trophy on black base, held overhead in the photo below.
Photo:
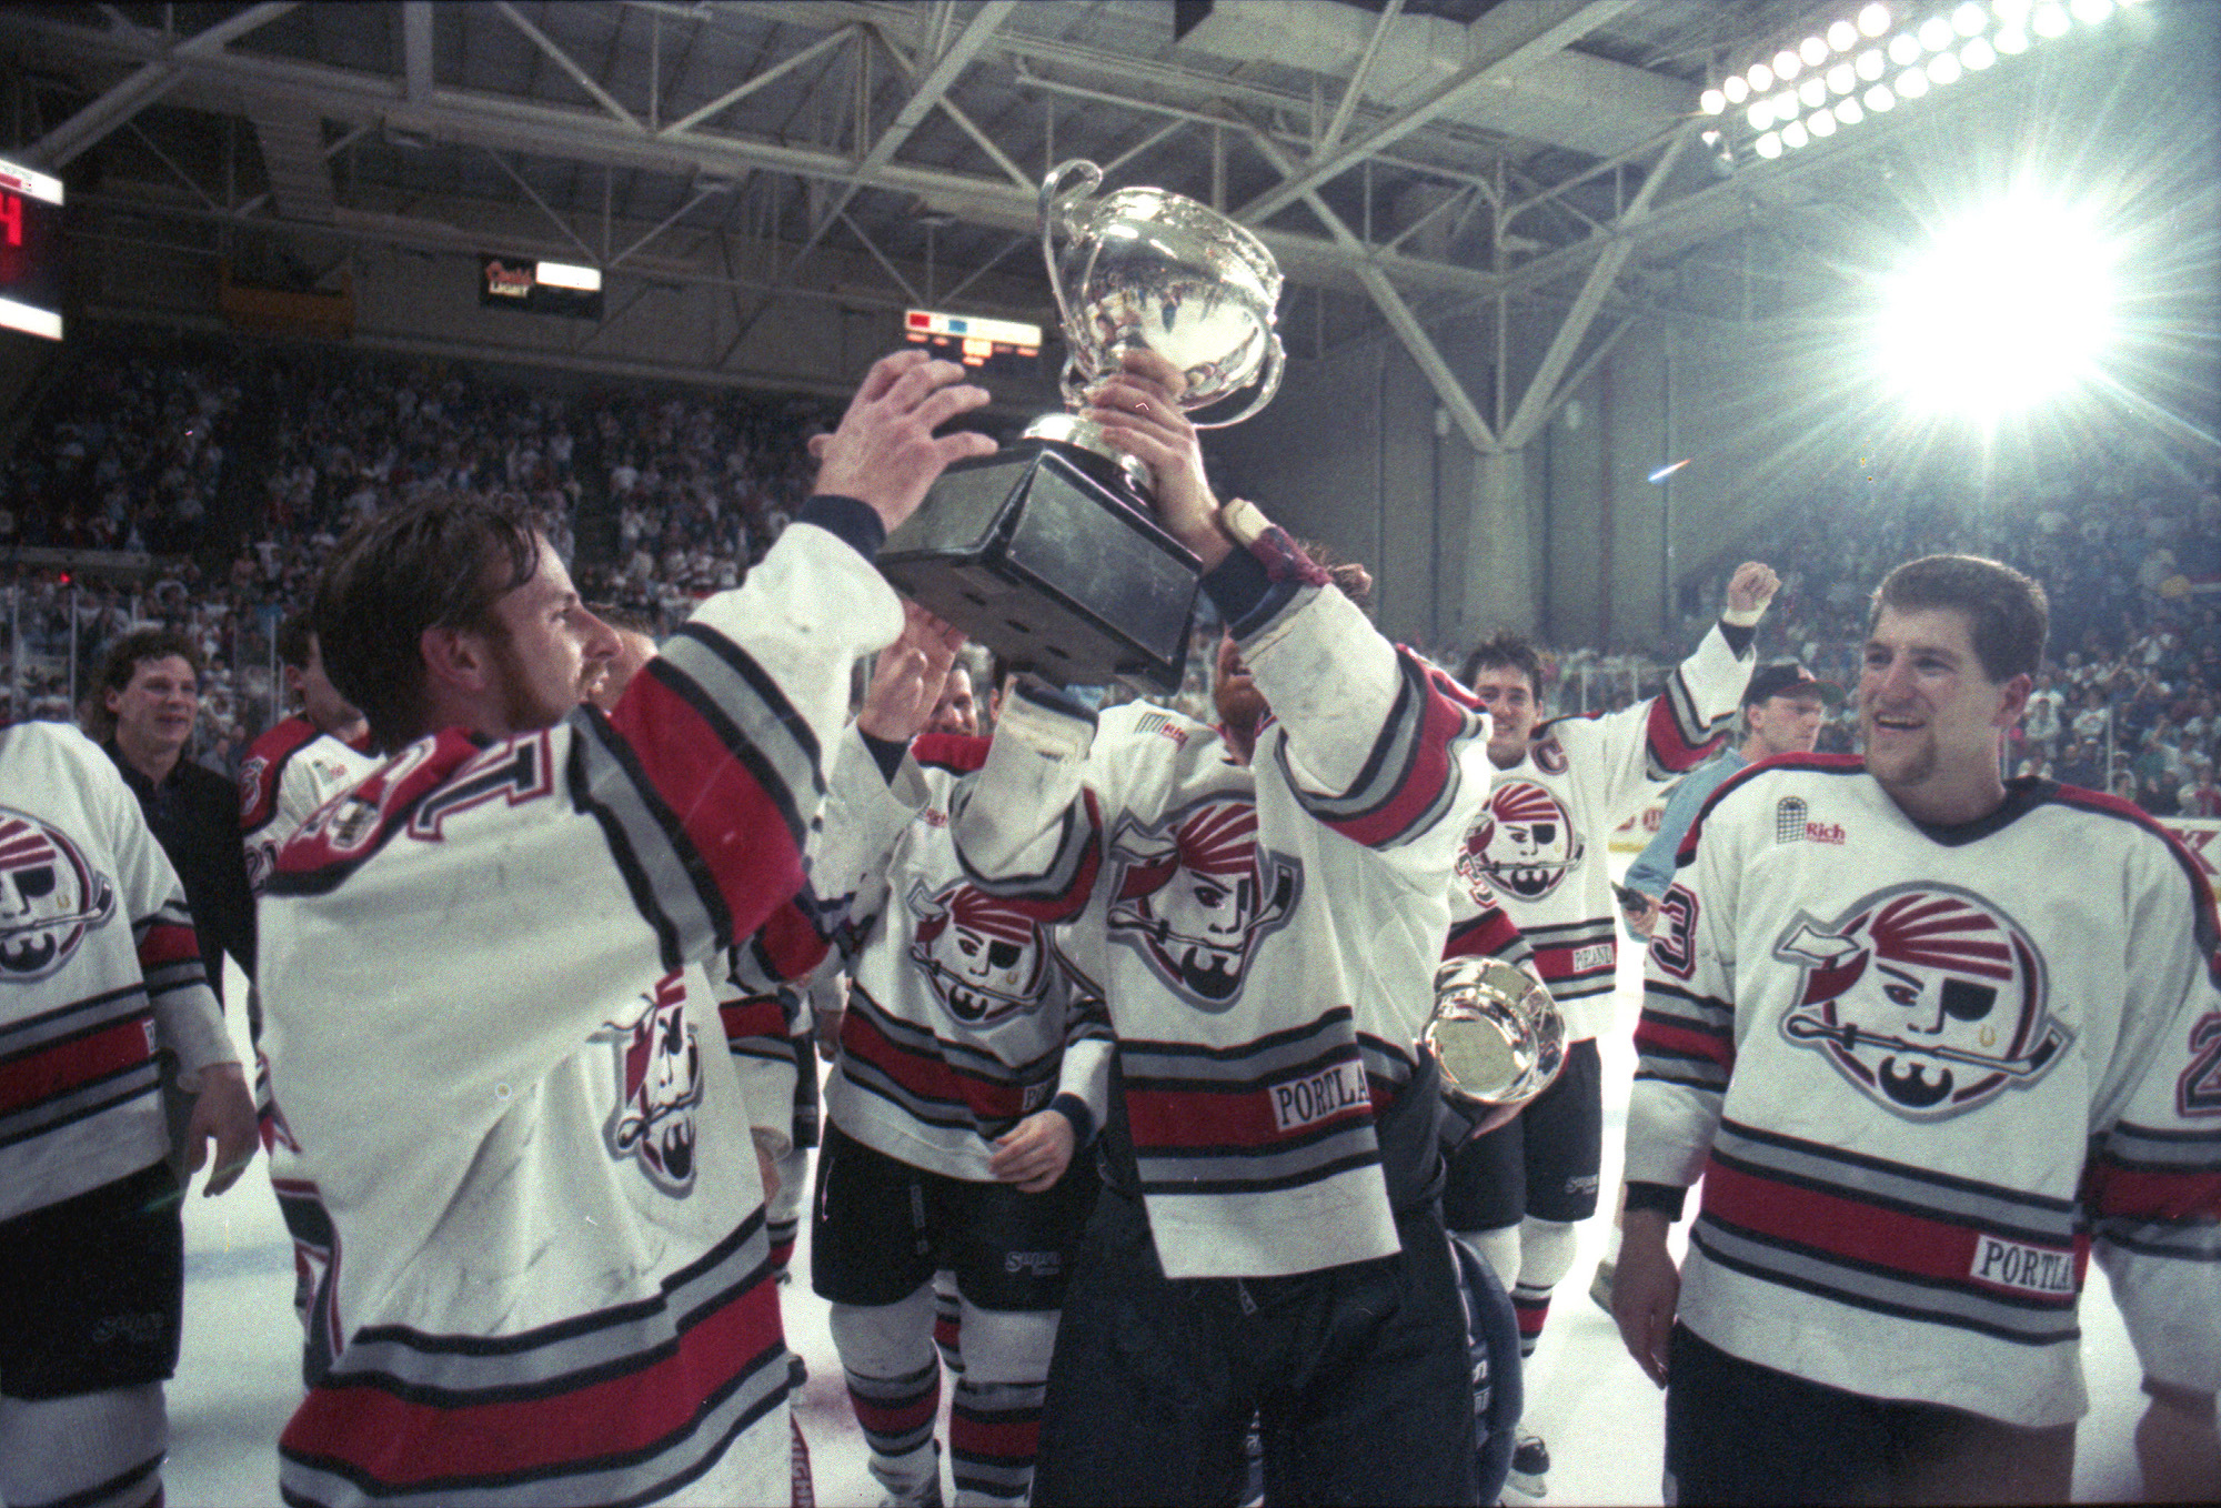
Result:
{"label": "large two-handled silver cup trophy on black base, held overhead", "polygon": [[[957,462],[888,537],[895,586],[1008,662],[1059,682],[1173,691],[1186,664],[1199,566],[1150,511],[1148,466],[1079,418],[1086,389],[1148,346],[1186,375],[1197,411],[1257,384],[1222,429],[1264,409],[1286,355],[1273,333],[1279,267],[1246,229],[1164,189],[1097,200],[1102,169],[1042,180],[1042,255],[1064,322],[1068,413],[1017,444]],[[1062,240],[1062,249],[1059,249]]]}

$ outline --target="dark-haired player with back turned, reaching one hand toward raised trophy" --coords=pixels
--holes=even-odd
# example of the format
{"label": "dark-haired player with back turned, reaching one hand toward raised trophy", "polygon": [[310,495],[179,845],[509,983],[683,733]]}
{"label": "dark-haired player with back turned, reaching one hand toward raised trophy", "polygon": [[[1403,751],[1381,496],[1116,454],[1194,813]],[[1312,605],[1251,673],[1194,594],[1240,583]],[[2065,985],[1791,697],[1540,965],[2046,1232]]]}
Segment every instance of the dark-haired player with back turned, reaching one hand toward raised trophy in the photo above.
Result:
{"label": "dark-haired player with back turned, reaching one hand toward raised trophy", "polygon": [[[986,402],[877,362],[817,495],[615,713],[615,653],[546,540],[475,500],[369,520],[326,566],[333,684],[391,760],[278,855],[278,1102],[333,1222],[331,1361],[280,1439],[298,1504],[791,1495],[788,1353],[728,1055],[686,964],[802,884],[871,566]],[[788,908],[791,911],[791,908]]]}

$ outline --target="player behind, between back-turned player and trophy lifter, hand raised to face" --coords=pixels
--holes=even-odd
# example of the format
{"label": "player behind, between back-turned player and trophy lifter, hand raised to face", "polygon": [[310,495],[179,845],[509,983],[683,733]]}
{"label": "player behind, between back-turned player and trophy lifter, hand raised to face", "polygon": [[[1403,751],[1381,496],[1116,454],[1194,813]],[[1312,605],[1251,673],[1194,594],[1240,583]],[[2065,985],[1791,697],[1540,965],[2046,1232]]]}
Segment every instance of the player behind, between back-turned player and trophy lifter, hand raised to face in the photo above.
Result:
{"label": "player behind, between back-turned player and trophy lifter, hand raised to face", "polygon": [[[842,737],[813,886],[851,895],[848,1006],[826,1079],[811,1279],[871,1472],[891,1501],[939,1504],[935,1270],[953,1275],[964,1370],[948,1415],[957,1504],[1024,1504],[1048,1353],[1093,1195],[1073,1168],[1104,1117],[1110,1031],[1075,999],[1035,906],[971,884],[951,793],[986,742],[957,642],[882,655]],[[957,704],[955,708],[951,704]],[[906,753],[908,751],[908,753]],[[840,851],[835,871],[833,851]]]}

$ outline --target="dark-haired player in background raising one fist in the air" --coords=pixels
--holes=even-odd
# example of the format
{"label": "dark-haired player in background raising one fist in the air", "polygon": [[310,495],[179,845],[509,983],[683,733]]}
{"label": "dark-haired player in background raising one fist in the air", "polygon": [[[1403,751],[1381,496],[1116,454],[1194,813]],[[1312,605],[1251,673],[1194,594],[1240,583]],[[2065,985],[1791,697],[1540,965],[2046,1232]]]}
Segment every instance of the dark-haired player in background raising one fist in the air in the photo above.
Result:
{"label": "dark-haired player in background raising one fist in the air", "polygon": [[[1566,1017],[1564,1073],[1517,1119],[1466,1142],[1444,1188],[1450,1230],[1510,1288],[1524,1355],[1535,1355],[1550,1290],[1572,1266],[1575,1224],[1597,1213],[1597,1033],[1610,1026],[1619,957],[1610,833],[1715,748],[1750,680],[1750,642],[1777,589],[1768,566],[1737,566],[1726,613],[1666,688],[1604,717],[1539,722],[1541,662],[1517,635],[1466,657],[1464,680],[1490,715],[1493,784],[1457,857],[1455,915],[1464,922],[1493,891]],[[1548,1470],[1548,1446],[1524,1432],[1513,1486],[1541,1497]]]}

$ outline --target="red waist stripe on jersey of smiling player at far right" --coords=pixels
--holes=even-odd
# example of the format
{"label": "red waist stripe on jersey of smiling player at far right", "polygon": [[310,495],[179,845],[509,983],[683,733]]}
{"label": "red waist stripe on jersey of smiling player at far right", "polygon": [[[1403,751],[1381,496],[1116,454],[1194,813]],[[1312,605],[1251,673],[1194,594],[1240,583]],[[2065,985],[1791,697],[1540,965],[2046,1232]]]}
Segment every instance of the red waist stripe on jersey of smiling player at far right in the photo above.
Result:
{"label": "red waist stripe on jersey of smiling player at far right", "polygon": [[[1981,1241],[1981,1233],[1972,1226],[1888,1210],[1819,1188],[1797,1188],[1730,1168],[1719,1157],[1712,1157],[1704,1170],[1704,1213],[1828,1257],[1952,1284],[1972,1281],[1974,1246]],[[2081,1288],[2086,1259],[2088,1244],[2077,1241],[2077,1288]],[[2030,1295],[2030,1299],[2061,1308],[2074,1306],[2074,1295]]]}

